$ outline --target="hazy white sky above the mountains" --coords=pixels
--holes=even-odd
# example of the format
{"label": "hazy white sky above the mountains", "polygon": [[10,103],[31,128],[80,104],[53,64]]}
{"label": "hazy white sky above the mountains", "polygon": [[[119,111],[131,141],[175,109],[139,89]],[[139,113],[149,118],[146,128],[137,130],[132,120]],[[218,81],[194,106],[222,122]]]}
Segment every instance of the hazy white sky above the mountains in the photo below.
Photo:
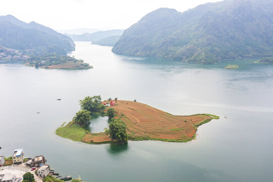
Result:
{"label": "hazy white sky above the mountains", "polygon": [[55,30],[73,28],[126,29],[158,8],[179,12],[220,0],[0,0],[0,15],[35,21]]}

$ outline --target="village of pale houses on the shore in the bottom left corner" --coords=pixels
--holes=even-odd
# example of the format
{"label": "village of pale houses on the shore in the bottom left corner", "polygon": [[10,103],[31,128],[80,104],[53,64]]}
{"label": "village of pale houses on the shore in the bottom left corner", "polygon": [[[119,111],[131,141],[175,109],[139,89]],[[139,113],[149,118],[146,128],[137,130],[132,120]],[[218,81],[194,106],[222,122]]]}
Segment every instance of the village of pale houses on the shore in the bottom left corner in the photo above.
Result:
{"label": "village of pale houses on the shore in the bottom left corner", "polygon": [[62,177],[45,163],[43,155],[24,157],[24,149],[16,149],[11,157],[0,156],[0,182],[22,182],[26,172],[33,174],[36,182],[44,181],[48,175],[56,175],[61,180],[72,179],[71,175]]}

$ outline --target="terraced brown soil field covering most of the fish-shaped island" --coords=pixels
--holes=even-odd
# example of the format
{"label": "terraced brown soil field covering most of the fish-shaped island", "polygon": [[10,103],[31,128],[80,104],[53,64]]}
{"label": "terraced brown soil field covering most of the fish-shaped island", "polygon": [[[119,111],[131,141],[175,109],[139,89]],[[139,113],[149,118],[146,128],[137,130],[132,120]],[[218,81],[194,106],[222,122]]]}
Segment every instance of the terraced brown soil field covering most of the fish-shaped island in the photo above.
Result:
{"label": "terraced brown soil field covering most of the fish-shaped island", "polygon": [[[129,140],[159,140],[167,142],[188,142],[195,138],[197,127],[218,119],[210,114],[175,116],[146,104],[118,100],[115,106],[116,119],[121,119]],[[107,111],[107,107],[105,112]],[[105,143],[111,139],[104,133],[88,133],[82,139],[86,143]]]}

